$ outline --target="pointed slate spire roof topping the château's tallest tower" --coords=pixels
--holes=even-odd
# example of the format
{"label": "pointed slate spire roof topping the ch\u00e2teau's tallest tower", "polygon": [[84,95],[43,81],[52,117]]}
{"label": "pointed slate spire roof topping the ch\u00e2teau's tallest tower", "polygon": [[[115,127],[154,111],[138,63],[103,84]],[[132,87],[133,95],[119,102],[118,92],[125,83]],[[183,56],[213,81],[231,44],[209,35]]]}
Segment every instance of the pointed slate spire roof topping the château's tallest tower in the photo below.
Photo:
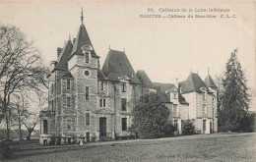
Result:
{"label": "pointed slate spire roof topping the ch\u00e2teau's tallest tower", "polygon": [[84,45],[91,45],[93,47],[93,51],[91,52],[92,53],[92,57],[99,58],[99,56],[96,55],[96,51],[95,51],[94,46],[93,46],[93,44],[91,42],[91,39],[90,39],[89,34],[87,32],[87,29],[86,29],[85,25],[82,24],[79,27],[76,41],[73,44],[73,49],[72,49],[72,52],[71,52],[71,57],[74,54],[82,54],[81,47],[84,46]]}

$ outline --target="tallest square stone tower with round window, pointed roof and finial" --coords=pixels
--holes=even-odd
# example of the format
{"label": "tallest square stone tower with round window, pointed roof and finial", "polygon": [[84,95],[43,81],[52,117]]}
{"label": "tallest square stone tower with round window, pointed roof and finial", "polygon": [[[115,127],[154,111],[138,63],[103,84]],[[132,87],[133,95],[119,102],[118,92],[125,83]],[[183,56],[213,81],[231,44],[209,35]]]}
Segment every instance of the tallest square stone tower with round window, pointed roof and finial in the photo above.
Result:
{"label": "tallest square stone tower with round window, pointed roof and finial", "polygon": [[83,11],[82,24],[77,37],[73,40],[73,48],[68,60],[68,68],[74,78],[77,137],[95,132],[92,112],[96,109],[98,56],[84,25]]}

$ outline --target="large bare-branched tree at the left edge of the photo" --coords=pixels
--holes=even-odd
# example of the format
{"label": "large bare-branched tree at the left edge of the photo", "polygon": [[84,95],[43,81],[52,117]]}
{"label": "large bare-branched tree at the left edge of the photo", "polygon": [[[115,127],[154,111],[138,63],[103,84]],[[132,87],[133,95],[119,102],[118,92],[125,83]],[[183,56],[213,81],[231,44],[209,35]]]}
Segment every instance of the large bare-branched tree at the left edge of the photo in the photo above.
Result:
{"label": "large bare-branched tree at the left edge of the photo", "polygon": [[18,27],[0,26],[0,122],[5,118],[7,139],[13,94],[31,89],[40,91],[41,86],[46,86],[46,73],[33,42]]}

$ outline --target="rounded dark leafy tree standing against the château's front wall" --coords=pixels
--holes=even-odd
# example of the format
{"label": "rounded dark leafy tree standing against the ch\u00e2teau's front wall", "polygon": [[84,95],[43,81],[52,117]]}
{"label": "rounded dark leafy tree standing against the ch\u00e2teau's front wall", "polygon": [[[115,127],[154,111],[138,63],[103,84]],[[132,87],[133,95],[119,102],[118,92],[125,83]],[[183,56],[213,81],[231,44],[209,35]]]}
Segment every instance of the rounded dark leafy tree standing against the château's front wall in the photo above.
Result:
{"label": "rounded dark leafy tree standing against the ch\u00e2teau's front wall", "polygon": [[133,131],[140,138],[160,137],[169,113],[157,93],[145,94],[136,102],[131,112]]}

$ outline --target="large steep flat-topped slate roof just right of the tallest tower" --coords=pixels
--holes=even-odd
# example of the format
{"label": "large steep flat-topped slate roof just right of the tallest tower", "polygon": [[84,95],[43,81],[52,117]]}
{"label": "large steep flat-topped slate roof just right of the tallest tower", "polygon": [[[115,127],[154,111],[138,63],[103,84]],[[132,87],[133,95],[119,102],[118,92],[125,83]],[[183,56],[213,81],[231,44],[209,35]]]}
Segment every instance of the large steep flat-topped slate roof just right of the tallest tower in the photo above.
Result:
{"label": "large steep flat-topped slate roof just right of the tallest tower", "polygon": [[141,83],[136,76],[126,54],[110,49],[102,67],[103,75],[110,81],[119,81],[118,78],[127,76],[131,82]]}

